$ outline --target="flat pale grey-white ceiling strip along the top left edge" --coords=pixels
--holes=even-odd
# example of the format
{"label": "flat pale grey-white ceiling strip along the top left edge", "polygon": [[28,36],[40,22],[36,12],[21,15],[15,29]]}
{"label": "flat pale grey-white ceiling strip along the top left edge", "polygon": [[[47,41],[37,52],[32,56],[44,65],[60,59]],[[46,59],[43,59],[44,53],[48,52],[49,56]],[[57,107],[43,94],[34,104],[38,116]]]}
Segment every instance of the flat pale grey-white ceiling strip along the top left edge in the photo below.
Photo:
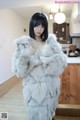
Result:
{"label": "flat pale grey-white ceiling strip along the top left edge", "polygon": [[55,0],[0,0],[0,8],[14,8],[53,4]]}

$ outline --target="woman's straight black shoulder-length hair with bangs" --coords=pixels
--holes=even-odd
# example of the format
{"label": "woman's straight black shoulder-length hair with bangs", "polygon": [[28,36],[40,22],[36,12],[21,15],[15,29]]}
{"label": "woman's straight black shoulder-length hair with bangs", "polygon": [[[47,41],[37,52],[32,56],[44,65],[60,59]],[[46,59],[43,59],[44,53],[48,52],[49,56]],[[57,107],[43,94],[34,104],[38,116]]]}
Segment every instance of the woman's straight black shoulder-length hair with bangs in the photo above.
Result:
{"label": "woman's straight black shoulder-length hair with bangs", "polygon": [[29,35],[31,38],[35,39],[34,27],[42,25],[44,27],[44,32],[41,35],[42,41],[45,41],[48,38],[48,22],[47,17],[43,13],[35,13],[30,20],[29,25]]}

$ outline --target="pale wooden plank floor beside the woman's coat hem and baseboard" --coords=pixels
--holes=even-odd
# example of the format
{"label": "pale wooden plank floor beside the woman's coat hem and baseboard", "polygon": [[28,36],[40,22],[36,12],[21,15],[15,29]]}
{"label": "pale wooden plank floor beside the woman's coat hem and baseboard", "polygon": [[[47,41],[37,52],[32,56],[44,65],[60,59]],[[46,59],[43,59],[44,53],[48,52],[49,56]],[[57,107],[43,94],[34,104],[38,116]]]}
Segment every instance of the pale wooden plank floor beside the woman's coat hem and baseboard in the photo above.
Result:
{"label": "pale wooden plank floor beside the woman's coat hem and baseboard", "polygon": [[[1,112],[8,112],[8,120],[26,120],[22,82],[19,82],[7,94],[0,98],[0,113]],[[80,120],[80,117],[56,116],[55,119]]]}

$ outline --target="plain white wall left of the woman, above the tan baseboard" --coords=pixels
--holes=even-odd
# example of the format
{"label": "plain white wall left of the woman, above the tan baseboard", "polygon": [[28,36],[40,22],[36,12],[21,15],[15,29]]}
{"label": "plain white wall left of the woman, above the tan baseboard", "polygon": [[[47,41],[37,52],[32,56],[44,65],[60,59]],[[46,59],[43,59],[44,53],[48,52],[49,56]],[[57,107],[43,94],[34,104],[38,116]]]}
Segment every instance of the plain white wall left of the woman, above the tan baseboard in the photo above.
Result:
{"label": "plain white wall left of the woman, above the tan baseboard", "polygon": [[[26,20],[10,9],[0,9],[0,84],[13,76],[14,39],[25,34]],[[27,27],[26,27],[27,28]]]}

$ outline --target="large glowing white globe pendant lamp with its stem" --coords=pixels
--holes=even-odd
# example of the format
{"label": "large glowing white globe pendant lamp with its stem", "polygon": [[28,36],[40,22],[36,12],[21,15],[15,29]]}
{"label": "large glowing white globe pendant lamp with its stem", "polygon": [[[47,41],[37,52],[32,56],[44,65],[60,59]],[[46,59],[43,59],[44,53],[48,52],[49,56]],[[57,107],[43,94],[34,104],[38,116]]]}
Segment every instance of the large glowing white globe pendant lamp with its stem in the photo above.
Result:
{"label": "large glowing white globe pendant lamp with its stem", "polygon": [[55,20],[55,22],[58,23],[58,24],[62,24],[62,23],[64,23],[65,20],[66,20],[65,14],[62,13],[62,12],[60,12],[60,7],[59,7],[58,13],[56,13],[55,16],[54,16],[54,20]]}

